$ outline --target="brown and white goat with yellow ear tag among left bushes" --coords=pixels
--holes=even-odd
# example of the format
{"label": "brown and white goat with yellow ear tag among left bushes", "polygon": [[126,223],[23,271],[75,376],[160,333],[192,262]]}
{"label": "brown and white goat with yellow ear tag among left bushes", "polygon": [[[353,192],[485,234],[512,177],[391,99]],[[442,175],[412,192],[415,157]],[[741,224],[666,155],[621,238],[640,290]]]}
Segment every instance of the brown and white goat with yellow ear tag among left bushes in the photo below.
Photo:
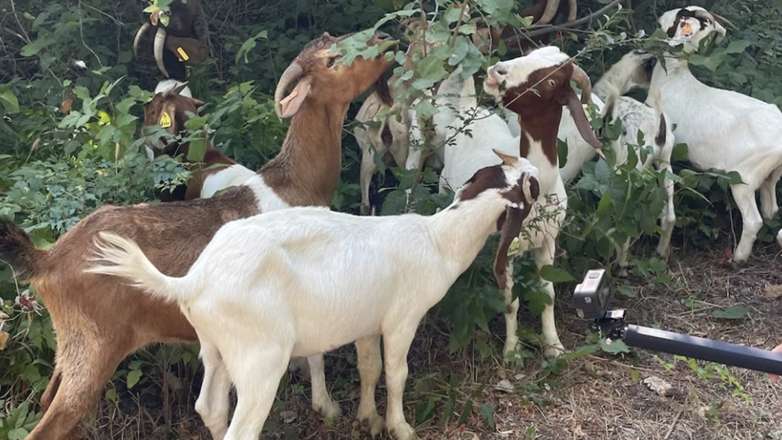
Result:
{"label": "brown and white goat with yellow ear tag among left bushes", "polygon": [[[181,96],[182,88],[186,83],[170,88],[165,92],[157,93],[149,103],[144,104],[144,124],[142,131],[150,131],[150,128],[160,126],[169,135],[177,136],[185,128],[185,121],[198,114],[196,106],[203,104],[198,99]],[[190,166],[192,177],[185,188],[175,188],[173,191],[163,191],[160,200],[193,200],[199,197],[212,197],[221,189],[231,186],[239,186],[253,177],[255,172],[237,164],[231,157],[226,156],[212,142],[206,139],[206,151],[203,159],[194,161],[188,159],[190,142],[179,142],[178,139],[170,139],[170,136],[160,137],[158,133],[145,133],[146,151],[150,158],[167,154],[171,157],[182,155],[183,160]],[[206,136],[206,134],[204,134]]]}

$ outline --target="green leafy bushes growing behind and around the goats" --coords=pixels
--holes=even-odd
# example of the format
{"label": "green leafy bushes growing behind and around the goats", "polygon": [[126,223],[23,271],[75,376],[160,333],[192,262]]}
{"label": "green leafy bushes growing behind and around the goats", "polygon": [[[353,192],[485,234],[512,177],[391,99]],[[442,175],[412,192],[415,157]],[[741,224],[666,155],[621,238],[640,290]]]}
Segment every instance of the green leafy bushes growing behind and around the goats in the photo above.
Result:
{"label": "green leafy bushes growing behind and around the goats", "polygon": [[[514,13],[529,3],[476,0],[470,2],[470,11],[472,16],[484,13],[490,22],[518,27],[522,20]],[[579,2],[579,16],[606,3]],[[726,16],[738,27],[708,56],[691,60],[698,78],[782,104],[782,78],[778,75],[782,2],[694,3]],[[553,44],[571,55],[580,54],[576,62],[593,81],[630,47],[646,44],[644,36],[655,31],[659,13],[681,6],[672,0],[622,4],[626,9],[619,13],[612,9],[607,16],[597,17],[590,28],[564,32],[554,39]],[[155,200],[156,186],[186,178],[175,160],[146,160],[138,141],[142,103],[151,97],[149,90],[159,79],[151,38],[142,41],[140,59],[135,60],[131,51],[145,5],[109,0],[9,0],[0,5],[0,215],[24,225],[40,246],[53,243],[102,204]],[[419,81],[414,82],[414,93],[420,94],[454,69],[455,63],[449,61],[452,53],[468,73],[510,56],[504,48],[491,57],[482,56],[468,35],[454,34],[461,2],[442,0],[437,6],[435,2],[405,4],[398,0],[203,2],[210,58],[189,71],[194,95],[208,103],[208,117],[200,124],[208,120],[213,142],[221,150],[250,168],[260,167],[274,157],[285,136],[285,126],[274,115],[271,93],[278,75],[301,47],[323,31],[344,34],[367,29],[385,14],[393,14],[392,20],[381,28],[401,38],[396,23],[410,15],[404,11],[421,5],[430,12],[439,11],[431,38],[449,42],[453,38],[453,50],[432,51],[429,58],[417,63],[414,73]],[[396,73],[404,74],[404,69],[397,67]],[[644,94],[638,96],[643,99]],[[350,107],[347,125],[361,100]],[[72,106],[72,111],[66,115],[61,110],[67,106]],[[431,108],[423,105],[418,110],[427,114]],[[349,128],[343,138],[342,182],[333,207],[355,212],[360,152]],[[610,136],[609,132],[604,135]],[[686,148],[682,146],[677,149],[674,170],[678,219],[673,245],[708,249],[718,240],[731,246],[732,226],[740,224],[740,217],[724,188],[735,176],[694,173],[687,170],[685,160]],[[396,189],[383,194],[383,214],[404,211],[405,204],[398,203],[400,195],[412,186],[416,186],[412,210],[431,213],[447,204],[442,197],[430,194],[426,186],[418,186],[421,176],[392,171],[400,183],[384,182],[384,186]],[[549,271],[553,280],[566,282],[579,278],[586,269],[609,265],[612,243],[624,237],[641,243],[656,240],[656,213],[663,200],[657,187],[659,173],[640,173],[626,166],[613,175],[601,160],[588,164],[584,174],[584,179],[569,188],[570,220],[560,240],[568,258],[558,262],[565,272]],[[422,178],[425,183],[436,182],[431,171],[422,173]],[[772,231],[779,222],[773,223],[775,229],[763,229],[761,240],[773,239]],[[439,305],[439,315],[449,318],[452,350],[471,343],[476,328],[489,332],[490,319],[504,308],[490,272],[493,246],[496,244],[490,240],[486,252]],[[540,312],[545,298],[534,276],[536,269],[529,260],[517,260],[518,294],[532,312]],[[664,282],[663,261],[637,255],[634,262],[638,275],[650,282]],[[0,438],[23,438],[33,426],[38,417],[38,395],[52,368],[55,343],[51,323],[44,308],[19,304],[18,298],[27,298],[27,294],[25,286],[13,282],[8,268],[0,268],[0,301],[8,316],[0,318],[0,330],[10,334],[7,346],[0,351],[0,407],[5,409],[5,415],[0,413]],[[26,303],[24,299],[21,302]],[[479,342],[482,349],[496,349]],[[117,373],[117,380],[132,388],[145,380],[145,375],[154,377],[160,369],[153,366],[160,362],[150,359],[197,366],[192,351],[166,348],[138,355]],[[116,399],[116,393],[107,392],[106,396]]]}

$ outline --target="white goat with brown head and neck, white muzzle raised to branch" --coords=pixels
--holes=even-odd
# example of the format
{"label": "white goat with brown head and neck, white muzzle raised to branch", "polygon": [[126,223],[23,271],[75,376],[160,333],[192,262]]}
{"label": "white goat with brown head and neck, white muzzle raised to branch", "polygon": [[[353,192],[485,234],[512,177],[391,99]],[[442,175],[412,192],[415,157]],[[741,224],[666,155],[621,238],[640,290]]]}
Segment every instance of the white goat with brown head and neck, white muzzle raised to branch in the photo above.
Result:
{"label": "white goat with brown head and neck, white muzzle raised to branch", "polygon": [[[497,88],[498,83],[506,82],[508,88],[504,93],[506,106],[518,114],[518,120],[522,127],[526,128],[526,135],[518,137],[511,134],[503,117],[478,107],[475,99],[475,84],[472,78],[467,78],[461,87],[458,114],[461,117],[474,117],[466,127],[472,137],[465,132],[459,132],[454,142],[450,142],[445,147],[446,163],[440,176],[441,188],[443,186],[456,188],[461,186],[475,170],[491,163],[490,147],[514,154],[521,150],[522,157],[527,157],[540,172],[541,197],[535,204],[535,215],[530,218],[542,215],[544,224],[540,229],[530,232],[529,237],[520,237],[522,239],[520,250],[534,250],[539,268],[550,265],[554,261],[556,238],[567,209],[567,195],[558,172],[556,150],[557,128],[563,114],[563,105],[567,105],[573,117],[576,117],[576,126],[584,139],[589,139],[592,145],[600,145],[589,127],[575,92],[569,85],[571,78],[576,80],[584,91],[583,99],[588,101],[591,89],[589,78],[583,70],[569,63],[568,59],[567,54],[559,49],[545,47],[529,52],[527,56],[497,63],[490,68],[484,89],[493,96],[501,98],[503,95]],[[530,81],[529,78],[536,79]],[[539,90],[528,92],[529,88]],[[568,99],[565,100],[565,97]],[[571,97],[572,99],[569,99]],[[504,355],[506,358],[518,348],[519,301],[514,300],[512,296],[512,274],[511,261],[508,264],[508,283],[504,289],[505,301],[508,305],[508,312],[505,313],[507,336]],[[559,355],[563,351],[563,346],[554,323],[554,286],[548,282],[543,282],[543,285],[551,297],[551,304],[543,309],[541,316],[544,352],[546,355]]]}

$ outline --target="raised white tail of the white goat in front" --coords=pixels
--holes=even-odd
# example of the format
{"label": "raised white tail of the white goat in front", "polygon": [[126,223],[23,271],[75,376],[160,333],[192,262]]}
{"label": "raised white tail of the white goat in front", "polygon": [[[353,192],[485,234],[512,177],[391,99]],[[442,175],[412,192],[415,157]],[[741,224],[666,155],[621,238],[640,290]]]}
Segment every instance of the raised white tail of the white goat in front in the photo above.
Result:
{"label": "raised white tail of the white goat in front", "polygon": [[164,275],[152,264],[152,261],[149,261],[141,247],[138,247],[133,240],[102,232],[99,233],[99,238],[95,239],[95,247],[98,253],[92,259],[108,264],[94,265],[84,269],[84,272],[102,273],[131,280],[134,287],[145,290],[153,297],[164,301],[184,300],[190,291],[183,283],[185,278]]}

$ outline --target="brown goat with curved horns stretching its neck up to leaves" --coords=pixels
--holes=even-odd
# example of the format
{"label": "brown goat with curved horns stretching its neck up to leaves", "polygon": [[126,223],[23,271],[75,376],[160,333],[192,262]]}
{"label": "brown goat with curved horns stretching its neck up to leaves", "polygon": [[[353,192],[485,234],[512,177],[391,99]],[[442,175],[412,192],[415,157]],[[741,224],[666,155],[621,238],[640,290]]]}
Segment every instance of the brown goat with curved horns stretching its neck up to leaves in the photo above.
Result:
{"label": "brown goat with curved horns stretching its neck up to leaves", "polygon": [[[278,156],[245,185],[209,199],[101,207],[47,250],[34,247],[19,226],[0,218],[0,259],[33,283],[56,328],[55,371],[41,398],[44,415],[26,440],[77,437],[79,420],[125,356],[152,342],[197,339],[177,305],[150,298],[113,277],[83,273],[93,265],[92,242],[99,232],[132,237],[164,273],[183,276],[217,229],[231,220],[331,204],[350,101],[391,65],[384,54],[357,58],[350,66],[336,63],[339,54],[331,47],[343,38],[324,33],[310,41],[282,74],[274,96],[278,115],[292,117],[289,132]],[[387,34],[376,32],[368,44],[385,46],[386,41]],[[296,88],[283,99],[294,83]],[[217,355],[219,361],[219,354],[202,353],[207,355]],[[322,355],[313,357],[310,373],[314,405],[333,416],[339,408],[325,390]],[[230,384],[224,369],[207,370],[205,381]],[[317,398],[316,392],[321,393]],[[196,410],[213,438],[223,438],[228,395],[210,400],[205,394]]]}

